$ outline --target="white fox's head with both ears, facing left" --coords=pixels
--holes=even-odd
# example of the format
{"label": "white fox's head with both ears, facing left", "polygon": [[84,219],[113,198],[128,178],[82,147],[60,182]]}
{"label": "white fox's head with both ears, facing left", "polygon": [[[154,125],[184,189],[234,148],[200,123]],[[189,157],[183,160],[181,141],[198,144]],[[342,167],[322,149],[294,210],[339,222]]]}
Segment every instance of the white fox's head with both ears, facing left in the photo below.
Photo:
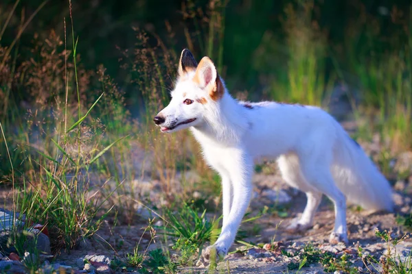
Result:
{"label": "white fox's head with both ears, facing left", "polygon": [[192,53],[183,49],[178,73],[171,92],[172,100],[153,119],[161,127],[161,132],[175,132],[200,125],[205,119],[208,104],[216,103],[225,93],[216,66],[208,57],[197,64]]}

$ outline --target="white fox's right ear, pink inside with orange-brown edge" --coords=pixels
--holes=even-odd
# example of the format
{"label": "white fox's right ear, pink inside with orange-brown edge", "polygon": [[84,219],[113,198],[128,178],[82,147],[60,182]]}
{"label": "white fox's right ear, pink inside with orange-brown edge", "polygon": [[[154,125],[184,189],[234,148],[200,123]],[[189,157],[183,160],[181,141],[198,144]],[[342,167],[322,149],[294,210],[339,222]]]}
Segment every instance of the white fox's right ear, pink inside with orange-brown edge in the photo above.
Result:
{"label": "white fox's right ear, pink inside with orange-brown edge", "polygon": [[222,98],[225,92],[225,87],[218,75],[216,66],[207,56],[203,57],[198,64],[193,81],[196,82],[200,88],[207,90],[209,96],[214,101]]}

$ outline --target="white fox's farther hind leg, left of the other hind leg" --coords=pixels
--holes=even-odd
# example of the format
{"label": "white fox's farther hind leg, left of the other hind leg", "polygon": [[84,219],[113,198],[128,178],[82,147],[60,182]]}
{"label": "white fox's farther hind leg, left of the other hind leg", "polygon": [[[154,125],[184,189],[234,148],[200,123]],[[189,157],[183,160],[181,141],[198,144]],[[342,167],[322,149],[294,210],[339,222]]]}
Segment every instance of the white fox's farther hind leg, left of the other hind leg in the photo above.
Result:
{"label": "white fox's farther hind leg, left of the other hind leg", "polygon": [[285,182],[290,186],[298,188],[306,192],[308,201],[304,212],[299,219],[294,219],[293,222],[286,228],[289,232],[303,232],[312,227],[314,213],[321,203],[322,193],[312,188],[306,182],[301,173],[299,160],[296,155],[282,155],[278,159],[279,170]]}

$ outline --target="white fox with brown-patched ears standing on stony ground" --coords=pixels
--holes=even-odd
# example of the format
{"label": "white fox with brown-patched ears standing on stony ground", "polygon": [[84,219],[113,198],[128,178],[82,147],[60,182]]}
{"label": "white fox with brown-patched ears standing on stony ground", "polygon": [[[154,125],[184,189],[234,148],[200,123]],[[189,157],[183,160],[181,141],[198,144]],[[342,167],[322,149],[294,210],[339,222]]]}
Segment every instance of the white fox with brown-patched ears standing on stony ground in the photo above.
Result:
{"label": "white fox with brown-patched ears standing on stony ground", "polygon": [[197,64],[184,49],[172,101],[154,121],[161,132],[190,127],[205,160],[222,178],[222,232],[205,258],[222,259],[251,199],[253,160],[277,159],[284,180],[308,202],[288,229],[304,231],[326,195],[334,203],[330,242],[347,242],[346,199],[365,209],[392,210],[391,187],[359,145],[320,108],[233,99],[208,57]]}

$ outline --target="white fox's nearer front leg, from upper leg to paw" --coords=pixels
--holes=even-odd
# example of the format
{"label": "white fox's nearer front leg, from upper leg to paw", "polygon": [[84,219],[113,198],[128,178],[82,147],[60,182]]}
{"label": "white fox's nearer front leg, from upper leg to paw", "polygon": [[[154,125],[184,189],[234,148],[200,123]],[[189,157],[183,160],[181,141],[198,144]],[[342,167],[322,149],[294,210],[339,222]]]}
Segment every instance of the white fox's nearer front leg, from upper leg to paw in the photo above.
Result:
{"label": "white fox's nearer front leg, from upper leg to paw", "polygon": [[[238,231],[239,225],[251,199],[253,161],[249,155],[240,149],[231,151],[230,155],[233,160],[228,161],[230,163],[227,164],[226,167],[231,185],[233,186],[232,205],[229,211],[229,216],[227,216],[227,218],[223,216],[225,220],[223,221],[222,232],[220,233],[218,240],[216,240],[214,245],[207,247],[205,250],[204,257],[206,260],[209,260],[212,252],[216,252],[218,257],[216,258],[217,260],[225,258],[229,247],[235,240],[236,232]],[[223,191],[225,192],[225,190]]]}

